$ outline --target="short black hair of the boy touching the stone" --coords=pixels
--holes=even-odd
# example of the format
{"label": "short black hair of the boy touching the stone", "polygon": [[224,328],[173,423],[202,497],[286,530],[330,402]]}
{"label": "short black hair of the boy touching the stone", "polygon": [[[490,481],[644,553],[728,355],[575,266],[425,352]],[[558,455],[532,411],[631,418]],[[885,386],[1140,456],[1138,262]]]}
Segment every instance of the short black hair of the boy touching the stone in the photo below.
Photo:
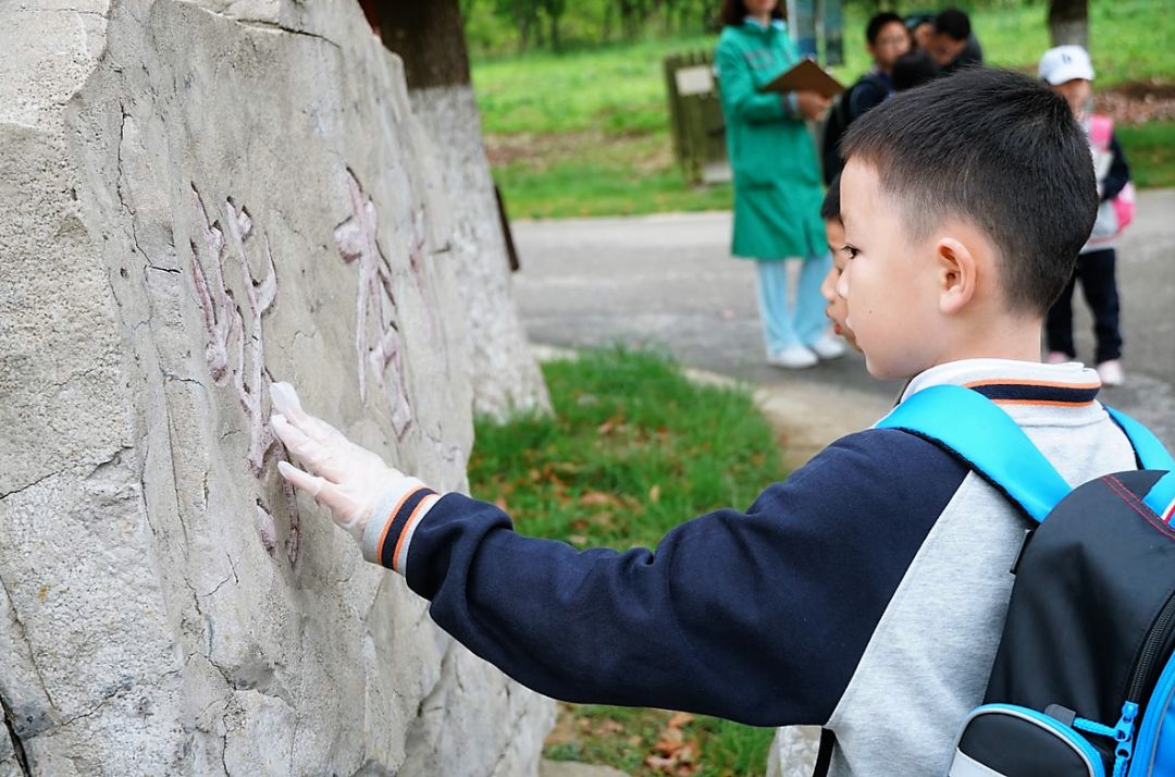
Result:
{"label": "short black hair of the boy touching the stone", "polygon": [[1043,314],[1097,214],[1085,132],[1065,99],[1021,73],[968,68],[854,121],[841,154],[871,166],[912,241],[947,217],[992,241],[1012,310]]}

